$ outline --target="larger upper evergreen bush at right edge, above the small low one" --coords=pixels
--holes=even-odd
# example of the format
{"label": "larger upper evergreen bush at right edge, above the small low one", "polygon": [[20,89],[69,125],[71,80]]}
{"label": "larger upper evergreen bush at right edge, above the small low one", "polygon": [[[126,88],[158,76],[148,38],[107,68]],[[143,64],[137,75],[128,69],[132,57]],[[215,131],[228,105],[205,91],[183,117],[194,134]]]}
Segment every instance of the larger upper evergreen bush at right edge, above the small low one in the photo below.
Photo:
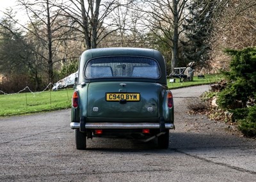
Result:
{"label": "larger upper evergreen bush at right edge, above the small low one", "polygon": [[230,72],[223,72],[228,86],[218,95],[217,103],[223,109],[246,107],[248,98],[256,95],[256,47],[225,52],[232,61]]}

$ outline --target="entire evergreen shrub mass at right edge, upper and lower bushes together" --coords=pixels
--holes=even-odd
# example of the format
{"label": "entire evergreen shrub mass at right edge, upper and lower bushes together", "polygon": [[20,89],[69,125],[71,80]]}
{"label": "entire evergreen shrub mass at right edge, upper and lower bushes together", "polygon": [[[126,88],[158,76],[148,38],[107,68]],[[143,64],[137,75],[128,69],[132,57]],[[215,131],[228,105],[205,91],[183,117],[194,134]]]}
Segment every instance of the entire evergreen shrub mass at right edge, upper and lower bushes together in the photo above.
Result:
{"label": "entire evergreen shrub mass at right edge, upper and lower bushes together", "polygon": [[217,104],[232,113],[232,121],[238,121],[238,128],[244,135],[255,136],[256,47],[225,52],[232,56],[232,60],[230,72],[223,72],[227,86],[218,93]]}

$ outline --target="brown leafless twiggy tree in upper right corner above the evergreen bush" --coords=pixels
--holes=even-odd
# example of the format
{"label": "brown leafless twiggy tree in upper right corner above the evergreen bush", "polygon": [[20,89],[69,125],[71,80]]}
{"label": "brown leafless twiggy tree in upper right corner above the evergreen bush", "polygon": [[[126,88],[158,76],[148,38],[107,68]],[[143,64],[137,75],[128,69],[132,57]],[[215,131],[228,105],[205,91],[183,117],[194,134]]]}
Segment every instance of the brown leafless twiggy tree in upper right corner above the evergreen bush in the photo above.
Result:
{"label": "brown leafless twiggy tree in upper right corner above the evergreen bush", "polygon": [[229,0],[219,5],[212,38],[212,67],[228,69],[229,57],[223,49],[256,46],[256,1]]}

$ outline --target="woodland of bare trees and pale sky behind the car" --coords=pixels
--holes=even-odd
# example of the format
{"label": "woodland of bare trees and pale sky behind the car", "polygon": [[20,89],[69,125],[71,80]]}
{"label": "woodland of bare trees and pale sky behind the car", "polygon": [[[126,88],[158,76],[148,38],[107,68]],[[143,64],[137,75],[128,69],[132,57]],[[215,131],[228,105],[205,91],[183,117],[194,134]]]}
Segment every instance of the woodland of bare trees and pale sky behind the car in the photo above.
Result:
{"label": "woodland of bare trees and pale sky behind the car", "polygon": [[[17,0],[0,17],[0,90],[40,91],[77,70],[86,49],[161,51],[167,72],[229,70],[224,49],[256,45],[255,0]],[[20,12],[24,12],[20,17]]]}

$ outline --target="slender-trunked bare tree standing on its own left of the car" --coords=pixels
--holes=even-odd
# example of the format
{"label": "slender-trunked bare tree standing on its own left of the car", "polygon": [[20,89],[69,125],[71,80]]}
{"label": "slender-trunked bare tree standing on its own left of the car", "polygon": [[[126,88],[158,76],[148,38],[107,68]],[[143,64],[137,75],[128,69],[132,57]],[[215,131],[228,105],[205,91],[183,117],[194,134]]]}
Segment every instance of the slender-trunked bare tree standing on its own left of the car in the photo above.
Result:
{"label": "slender-trunked bare tree standing on its own left of the car", "polygon": [[51,0],[19,0],[18,2],[20,6],[25,8],[29,18],[29,27],[20,26],[35,36],[38,43],[42,46],[43,49],[35,49],[34,53],[38,54],[36,57],[40,57],[40,59],[44,59],[47,62],[48,82],[53,82],[53,57],[58,51],[58,46],[60,46],[58,43],[61,41],[62,36],[60,29],[65,27],[61,24],[63,22],[60,19],[61,10],[56,10],[54,8],[55,1]]}

